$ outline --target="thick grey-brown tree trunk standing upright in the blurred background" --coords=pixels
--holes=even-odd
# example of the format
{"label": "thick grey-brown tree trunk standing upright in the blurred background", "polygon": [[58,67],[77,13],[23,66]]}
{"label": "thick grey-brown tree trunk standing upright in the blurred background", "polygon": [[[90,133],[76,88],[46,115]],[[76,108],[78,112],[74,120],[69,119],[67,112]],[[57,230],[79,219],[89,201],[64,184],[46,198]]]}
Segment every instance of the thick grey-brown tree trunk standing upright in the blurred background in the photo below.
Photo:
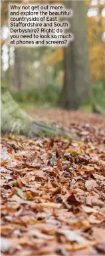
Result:
{"label": "thick grey-brown tree trunk standing upright in the blurred background", "polygon": [[73,10],[70,31],[74,41],[64,48],[64,86],[60,103],[66,109],[77,109],[91,100],[86,10],[84,1],[64,1],[64,4]]}

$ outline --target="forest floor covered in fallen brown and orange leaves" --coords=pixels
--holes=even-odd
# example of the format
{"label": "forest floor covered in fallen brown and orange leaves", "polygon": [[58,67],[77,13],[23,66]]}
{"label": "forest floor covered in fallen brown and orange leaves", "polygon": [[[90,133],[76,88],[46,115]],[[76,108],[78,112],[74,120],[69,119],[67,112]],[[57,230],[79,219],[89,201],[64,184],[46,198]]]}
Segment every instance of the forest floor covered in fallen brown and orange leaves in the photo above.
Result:
{"label": "forest floor covered in fallen brown and orange leaves", "polygon": [[1,138],[1,256],[105,255],[105,118],[29,111],[80,138]]}

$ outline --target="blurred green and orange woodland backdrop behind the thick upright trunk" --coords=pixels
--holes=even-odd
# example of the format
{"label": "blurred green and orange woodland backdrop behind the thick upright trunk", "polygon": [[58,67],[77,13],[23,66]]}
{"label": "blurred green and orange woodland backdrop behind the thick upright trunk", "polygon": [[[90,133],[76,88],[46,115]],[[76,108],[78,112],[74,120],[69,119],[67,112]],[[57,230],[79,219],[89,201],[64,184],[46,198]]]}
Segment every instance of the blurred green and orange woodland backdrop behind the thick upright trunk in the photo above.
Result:
{"label": "blurred green and orange woodland backdrop behind the thick upright trunk", "polygon": [[[12,2],[22,3],[22,1]],[[28,1],[33,4],[37,2],[39,1]],[[53,1],[50,2],[53,3]],[[61,1],[54,1],[54,3],[56,2],[60,3]],[[62,92],[66,68],[64,66],[64,49],[9,47],[8,3],[9,1],[1,1],[1,79],[23,108],[29,109],[41,105],[45,108],[56,107],[59,105],[60,97],[63,97],[63,93],[60,92]],[[101,108],[105,108],[104,4],[104,0],[86,1],[90,89],[93,102]],[[81,29],[81,26],[78,25],[78,29]],[[78,90],[79,86],[81,86],[80,82],[78,82]],[[72,93],[72,99],[75,98],[75,93],[73,91],[70,93]],[[68,107],[64,107],[68,109]],[[84,97],[83,103],[80,102],[78,107],[91,111],[92,101],[85,101]],[[71,105],[69,109],[75,109],[75,107]]]}

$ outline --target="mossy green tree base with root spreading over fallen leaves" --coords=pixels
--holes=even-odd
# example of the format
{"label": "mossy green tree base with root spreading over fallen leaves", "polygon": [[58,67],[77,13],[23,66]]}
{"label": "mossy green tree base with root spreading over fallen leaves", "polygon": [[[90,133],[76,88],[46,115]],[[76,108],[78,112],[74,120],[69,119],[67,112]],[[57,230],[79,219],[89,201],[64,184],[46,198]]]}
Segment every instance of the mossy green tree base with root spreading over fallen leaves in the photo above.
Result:
{"label": "mossy green tree base with root spreading over fallen leaves", "polygon": [[60,135],[76,139],[57,126],[52,127],[43,121],[33,119],[13,100],[9,90],[1,82],[1,132],[17,133],[34,137],[37,135]]}

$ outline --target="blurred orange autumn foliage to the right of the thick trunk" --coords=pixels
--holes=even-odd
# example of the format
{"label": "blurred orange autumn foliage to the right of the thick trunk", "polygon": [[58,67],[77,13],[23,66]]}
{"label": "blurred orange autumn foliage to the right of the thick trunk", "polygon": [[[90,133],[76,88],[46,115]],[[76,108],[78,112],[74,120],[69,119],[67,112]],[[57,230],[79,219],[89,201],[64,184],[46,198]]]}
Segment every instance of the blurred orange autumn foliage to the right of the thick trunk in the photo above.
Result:
{"label": "blurred orange autumn foliage to the right of the thick trunk", "polygon": [[[104,58],[104,31],[105,17],[104,3],[98,0],[96,5],[92,1],[86,1],[88,7],[87,25],[88,25],[88,44],[90,51],[90,70],[92,82],[99,82],[105,77],[105,58]],[[96,13],[96,15],[91,15]]]}

